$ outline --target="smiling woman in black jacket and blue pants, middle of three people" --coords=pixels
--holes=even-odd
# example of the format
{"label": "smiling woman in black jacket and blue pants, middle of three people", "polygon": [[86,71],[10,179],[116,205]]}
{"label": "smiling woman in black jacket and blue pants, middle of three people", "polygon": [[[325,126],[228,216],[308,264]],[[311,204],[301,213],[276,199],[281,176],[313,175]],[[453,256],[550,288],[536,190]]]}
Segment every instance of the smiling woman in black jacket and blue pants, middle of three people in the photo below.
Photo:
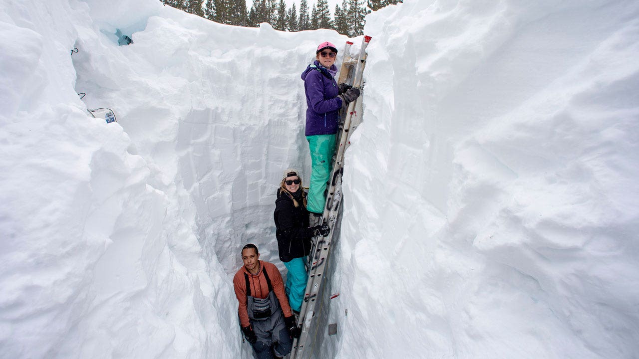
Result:
{"label": "smiling woman in black jacket and blue pants, middle of three people", "polygon": [[309,227],[309,211],[306,210],[306,192],[302,188],[302,178],[295,169],[284,171],[284,177],[277,188],[275,200],[275,236],[277,248],[286,275],[286,296],[291,309],[299,312],[304,299],[304,289],[308,273],[305,258],[311,252],[313,236],[327,236],[328,225]]}

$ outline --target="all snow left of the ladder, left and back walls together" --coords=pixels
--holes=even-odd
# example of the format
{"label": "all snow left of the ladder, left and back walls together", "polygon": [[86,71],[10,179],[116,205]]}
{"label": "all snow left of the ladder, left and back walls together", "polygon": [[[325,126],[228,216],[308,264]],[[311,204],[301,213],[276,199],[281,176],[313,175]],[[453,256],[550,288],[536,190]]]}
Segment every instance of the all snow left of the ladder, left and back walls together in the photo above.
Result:
{"label": "all snow left of the ladder, left and back walls together", "polygon": [[230,279],[248,241],[281,266],[275,188],[309,167],[299,73],[340,36],[155,0],[0,8],[0,357],[249,358]]}

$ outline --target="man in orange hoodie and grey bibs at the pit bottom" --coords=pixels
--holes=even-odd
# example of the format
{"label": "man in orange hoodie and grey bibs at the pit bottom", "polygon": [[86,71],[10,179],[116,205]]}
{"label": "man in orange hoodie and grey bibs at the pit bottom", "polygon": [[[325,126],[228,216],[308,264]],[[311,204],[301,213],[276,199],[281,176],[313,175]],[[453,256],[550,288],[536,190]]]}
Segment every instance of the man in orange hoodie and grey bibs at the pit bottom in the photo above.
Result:
{"label": "man in orange hoodie and grey bibs at the pit bottom", "polygon": [[244,265],[233,277],[242,332],[256,358],[282,358],[291,352],[292,337],[300,334],[282,275],[275,264],[259,260],[254,244],[242,248],[242,261]]}

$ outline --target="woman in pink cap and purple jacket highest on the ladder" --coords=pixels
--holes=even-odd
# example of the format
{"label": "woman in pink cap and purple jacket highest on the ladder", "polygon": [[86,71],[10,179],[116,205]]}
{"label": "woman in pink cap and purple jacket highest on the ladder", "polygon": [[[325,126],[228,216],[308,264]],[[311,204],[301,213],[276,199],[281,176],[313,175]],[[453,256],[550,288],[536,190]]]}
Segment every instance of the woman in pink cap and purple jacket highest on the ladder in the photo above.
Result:
{"label": "woman in pink cap and purple jacket highest on the ladder", "polygon": [[339,126],[339,109],[353,102],[358,88],[335,81],[337,48],[330,42],[320,43],[315,61],[302,72],[306,93],[306,139],[311,150],[311,181],[307,210],[321,215],[326,203],[326,185],[330,162],[335,151],[335,134]]}

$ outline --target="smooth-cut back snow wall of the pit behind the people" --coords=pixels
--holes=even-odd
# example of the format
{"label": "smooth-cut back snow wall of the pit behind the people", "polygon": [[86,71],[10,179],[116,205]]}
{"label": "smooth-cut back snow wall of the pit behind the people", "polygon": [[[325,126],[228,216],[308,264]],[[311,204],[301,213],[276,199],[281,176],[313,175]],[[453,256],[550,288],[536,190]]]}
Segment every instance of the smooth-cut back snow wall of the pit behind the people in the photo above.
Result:
{"label": "smooth-cut back snow wall of the pit behind the people", "polygon": [[[75,89],[88,93],[89,108],[102,106],[97,99],[118,104],[129,151],[144,158],[154,188],[171,187],[176,210],[187,222],[167,236],[174,241],[193,236],[199,243],[213,280],[204,303],[212,295],[213,310],[225,317],[215,323],[226,331],[216,340],[250,357],[233,320],[237,304],[230,280],[246,243],[258,245],[261,259],[286,275],[272,211],[284,169],[310,168],[299,75],[315,43],[327,34],[339,36],[278,33],[268,24],[227,27],[169,8],[160,11],[163,17],[149,17],[144,31],[133,33],[134,46],[114,47],[111,34],[98,36],[100,41],[91,32],[79,36]],[[100,33],[114,27],[102,25]],[[229,40],[233,36],[240,41]],[[255,45],[256,37],[265,43]]]}

